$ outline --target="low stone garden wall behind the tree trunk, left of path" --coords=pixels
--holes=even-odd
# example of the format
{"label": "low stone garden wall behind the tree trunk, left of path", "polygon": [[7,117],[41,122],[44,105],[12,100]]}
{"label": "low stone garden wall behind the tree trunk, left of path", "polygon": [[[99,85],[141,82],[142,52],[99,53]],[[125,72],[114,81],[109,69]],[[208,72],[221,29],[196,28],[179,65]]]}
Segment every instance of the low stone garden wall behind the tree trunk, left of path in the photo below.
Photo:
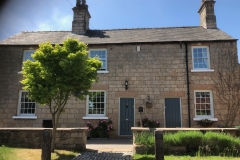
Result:
{"label": "low stone garden wall behind the tree trunk, left of path", "polygon": [[[46,128],[0,128],[0,145],[23,148],[42,148]],[[48,128],[52,131],[51,128]],[[86,150],[88,128],[58,128],[56,149]]]}

